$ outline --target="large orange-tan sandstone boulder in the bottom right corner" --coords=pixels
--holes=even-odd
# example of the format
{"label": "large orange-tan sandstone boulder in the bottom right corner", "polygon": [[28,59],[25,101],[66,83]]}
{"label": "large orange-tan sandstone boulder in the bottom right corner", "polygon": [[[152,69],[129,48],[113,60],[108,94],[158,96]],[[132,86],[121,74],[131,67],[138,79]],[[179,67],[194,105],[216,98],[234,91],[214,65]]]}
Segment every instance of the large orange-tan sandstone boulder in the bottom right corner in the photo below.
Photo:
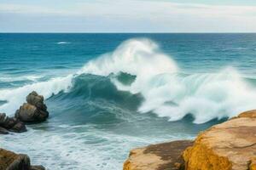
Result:
{"label": "large orange-tan sandstone boulder in the bottom right corner", "polygon": [[201,133],[183,153],[188,170],[247,170],[255,168],[256,111],[215,125]]}

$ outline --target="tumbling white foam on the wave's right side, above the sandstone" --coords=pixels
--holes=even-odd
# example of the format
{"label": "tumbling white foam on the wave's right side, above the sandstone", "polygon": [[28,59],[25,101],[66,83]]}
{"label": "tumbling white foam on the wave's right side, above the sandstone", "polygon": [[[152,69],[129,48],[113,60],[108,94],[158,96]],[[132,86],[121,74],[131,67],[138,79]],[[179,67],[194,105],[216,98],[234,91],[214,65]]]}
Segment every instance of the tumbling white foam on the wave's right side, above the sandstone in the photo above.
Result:
{"label": "tumbling white foam on the wave's right side, above the sandstone", "polygon": [[[155,83],[152,83],[155,82]],[[232,69],[216,74],[160,75],[146,84],[141,112],[153,111],[177,121],[192,114],[195,123],[236,116],[254,109],[256,93]],[[171,103],[170,103],[171,102]]]}

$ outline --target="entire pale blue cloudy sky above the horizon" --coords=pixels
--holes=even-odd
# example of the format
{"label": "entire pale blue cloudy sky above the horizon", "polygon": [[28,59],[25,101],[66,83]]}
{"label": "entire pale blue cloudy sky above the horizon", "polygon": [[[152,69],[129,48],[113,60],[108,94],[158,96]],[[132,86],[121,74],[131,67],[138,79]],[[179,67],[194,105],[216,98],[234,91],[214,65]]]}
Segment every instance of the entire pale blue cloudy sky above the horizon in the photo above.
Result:
{"label": "entire pale blue cloudy sky above the horizon", "polygon": [[256,0],[0,0],[0,32],[256,32]]}

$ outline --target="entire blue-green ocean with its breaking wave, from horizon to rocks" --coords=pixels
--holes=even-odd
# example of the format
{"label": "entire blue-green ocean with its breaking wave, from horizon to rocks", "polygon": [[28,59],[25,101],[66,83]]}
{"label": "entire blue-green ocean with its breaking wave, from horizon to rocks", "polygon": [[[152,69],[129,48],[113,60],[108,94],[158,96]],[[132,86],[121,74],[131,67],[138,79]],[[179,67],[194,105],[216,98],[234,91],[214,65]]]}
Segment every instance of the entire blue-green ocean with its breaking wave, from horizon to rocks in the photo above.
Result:
{"label": "entire blue-green ocean with its breaking wave, from horizon to rocks", "polygon": [[35,90],[49,119],[0,147],[47,169],[120,170],[256,108],[256,34],[0,34],[0,112]]}

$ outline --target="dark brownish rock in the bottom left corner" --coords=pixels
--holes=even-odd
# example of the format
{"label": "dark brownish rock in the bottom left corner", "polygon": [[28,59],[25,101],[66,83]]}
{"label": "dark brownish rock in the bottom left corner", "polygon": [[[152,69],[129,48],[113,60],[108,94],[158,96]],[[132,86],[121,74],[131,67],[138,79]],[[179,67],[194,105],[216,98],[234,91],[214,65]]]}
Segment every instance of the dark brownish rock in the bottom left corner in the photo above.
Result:
{"label": "dark brownish rock in the bottom left corner", "polygon": [[3,170],[44,170],[43,166],[31,166],[30,158],[23,154],[15,154],[0,149],[0,169]]}

